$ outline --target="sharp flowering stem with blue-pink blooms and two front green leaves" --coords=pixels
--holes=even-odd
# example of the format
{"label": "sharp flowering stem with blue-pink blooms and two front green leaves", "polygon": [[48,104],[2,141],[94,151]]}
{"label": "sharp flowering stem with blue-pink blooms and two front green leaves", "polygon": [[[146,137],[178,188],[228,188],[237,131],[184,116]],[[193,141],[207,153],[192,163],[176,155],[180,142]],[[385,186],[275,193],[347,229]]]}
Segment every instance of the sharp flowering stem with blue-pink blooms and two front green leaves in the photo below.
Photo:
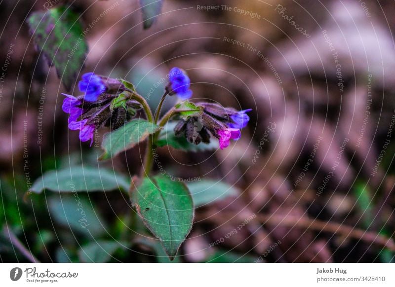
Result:
{"label": "sharp flowering stem with blue-pink blooms and two front green leaves", "polygon": [[[102,160],[110,159],[147,140],[142,172],[131,179],[127,191],[134,210],[172,260],[192,228],[194,197],[184,182],[172,180],[162,173],[153,174],[156,149],[172,145],[188,150],[189,146],[207,145],[213,139],[219,142],[220,149],[224,149],[230,145],[230,140],[237,141],[240,138],[241,129],[249,121],[247,112],[251,109],[237,111],[214,103],[194,103],[190,101],[191,81],[185,71],[173,68],[168,78],[169,82],[155,113],[132,83],[95,73],[82,76],[79,82],[81,95],[63,94],[62,108],[69,114],[69,129],[79,130],[81,142],[90,142],[92,145],[98,129],[104,126],[110,128],[110,133],[103,138]],[[177,96],[180,101],[160,117],[167,96]],[[138,114],[140,117],[137,117]],[[162,135],[164,126],[169,125],[174,126],[171,141],[164,140]],[[44,175],[39,180],[44,182],[42,189],[50,188],[46,185],[49,177]]]}

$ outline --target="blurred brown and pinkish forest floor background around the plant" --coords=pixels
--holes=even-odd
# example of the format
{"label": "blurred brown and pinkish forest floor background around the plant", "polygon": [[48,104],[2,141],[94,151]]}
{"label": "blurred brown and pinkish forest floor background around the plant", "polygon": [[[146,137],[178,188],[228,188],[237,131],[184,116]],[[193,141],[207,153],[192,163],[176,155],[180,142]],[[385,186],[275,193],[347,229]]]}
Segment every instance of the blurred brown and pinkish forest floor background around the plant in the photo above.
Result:
{"label": "blurred brown and pinkish forest floor background around the plant", "polygon": [[[120,191],[78,194],[90,232],[70,219],[72,194],[26,193],[43,173],[101,154],[68,131],[61,93],[78,90],[29,34],[27,17],[48,2],[0,1],[0,259],[164,262]],[[68,2],[92,26],[80,75],[126,78],[155,109],[158,81],[180,67],[194,99],[253,109],[228,149],[158,150],[169,174],[234,188],[197,208],[175,261],[394,261],[394,1],[164,0],[147,30],[137,0]],[[144,148],[101,165],[133,176]]]}

